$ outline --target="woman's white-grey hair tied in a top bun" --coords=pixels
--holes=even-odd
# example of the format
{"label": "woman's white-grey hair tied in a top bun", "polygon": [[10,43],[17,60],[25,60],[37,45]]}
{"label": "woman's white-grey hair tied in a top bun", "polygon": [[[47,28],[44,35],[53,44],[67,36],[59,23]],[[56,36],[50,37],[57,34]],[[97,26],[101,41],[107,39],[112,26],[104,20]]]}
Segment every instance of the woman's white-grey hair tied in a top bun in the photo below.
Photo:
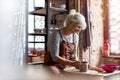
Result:
{"label": "woman's white-grey hair tied in a top bun", "polygon": [[64,26],[69,24],[69,22],[81,24],[82,30],[86,29],[85,17],[82,14],[80,14],[79,12],[76,12],[75,9],[70,10],[69,14],[67,15],[67,17],[64,21]]}

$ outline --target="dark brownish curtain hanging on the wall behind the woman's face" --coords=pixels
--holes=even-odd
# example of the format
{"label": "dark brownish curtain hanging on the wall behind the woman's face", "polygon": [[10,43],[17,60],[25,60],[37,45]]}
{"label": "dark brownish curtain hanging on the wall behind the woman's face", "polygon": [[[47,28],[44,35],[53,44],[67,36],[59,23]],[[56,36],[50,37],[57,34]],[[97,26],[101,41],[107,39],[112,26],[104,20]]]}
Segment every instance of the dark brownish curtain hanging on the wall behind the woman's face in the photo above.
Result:
{"label": "dark brownish curtain hanging on the wall behind the woman's face", "polygon": [[[85,16],[87,28],[80,32],[79,50],[81,59],[86,59],[90,62],[90,54],[92,53],[92,29],[90,18],[90,2],[89,0],[80,0],[80,12]],[[87,50],[87,51],[86,51]],[[87,52],[87,54],[85,53]]]}

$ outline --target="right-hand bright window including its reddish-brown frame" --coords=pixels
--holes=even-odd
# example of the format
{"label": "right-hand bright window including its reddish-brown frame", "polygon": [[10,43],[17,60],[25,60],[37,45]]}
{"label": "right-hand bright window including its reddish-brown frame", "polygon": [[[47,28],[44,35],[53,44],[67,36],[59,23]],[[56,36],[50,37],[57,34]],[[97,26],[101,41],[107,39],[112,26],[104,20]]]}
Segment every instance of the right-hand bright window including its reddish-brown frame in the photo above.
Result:
{"label": "right-hand bright window including its reddish-brown frame", "polygon": [[111,54],[115,55],[120,55],[120,5],[117,5],[118,3],[120,0],[105,0],[107,10],[105,11],[105,40],[109,40]]}

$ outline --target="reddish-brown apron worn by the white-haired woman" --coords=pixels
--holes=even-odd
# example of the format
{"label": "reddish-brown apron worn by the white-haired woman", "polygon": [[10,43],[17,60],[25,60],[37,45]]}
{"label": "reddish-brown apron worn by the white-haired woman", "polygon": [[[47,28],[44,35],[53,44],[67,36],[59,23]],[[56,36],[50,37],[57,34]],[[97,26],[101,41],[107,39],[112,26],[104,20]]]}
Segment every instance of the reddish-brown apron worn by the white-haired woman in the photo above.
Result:
{"label": "reddish-brown apron worn by the white-haired woman", "polygon": [[[59,31],[60,32],[60,31]],[[74,35],[73,35],[73,43],[69,43],[69,42],[65,42],[63,40],[63,37],[62,37],[62,34],[60,32],[60,36],[62,38],[62,42],[60,43],[60,53],[59,55],[65,59],[68,59],[68,60],[73,60],[71,59],[70,55],[72,54],[74,48],[75,48],[75,44],[74,44]],[[51,65],[54,65],[54,66],[57,66],[61,69],[65,68],[66,65],[61,65],[59,63],[56,63],[52,60],[51,58],[51,55],[50,55],[50,52],[49,51],[46,51],[45,53],[45,56],[44,56],[44,63],[51,66]]]}

